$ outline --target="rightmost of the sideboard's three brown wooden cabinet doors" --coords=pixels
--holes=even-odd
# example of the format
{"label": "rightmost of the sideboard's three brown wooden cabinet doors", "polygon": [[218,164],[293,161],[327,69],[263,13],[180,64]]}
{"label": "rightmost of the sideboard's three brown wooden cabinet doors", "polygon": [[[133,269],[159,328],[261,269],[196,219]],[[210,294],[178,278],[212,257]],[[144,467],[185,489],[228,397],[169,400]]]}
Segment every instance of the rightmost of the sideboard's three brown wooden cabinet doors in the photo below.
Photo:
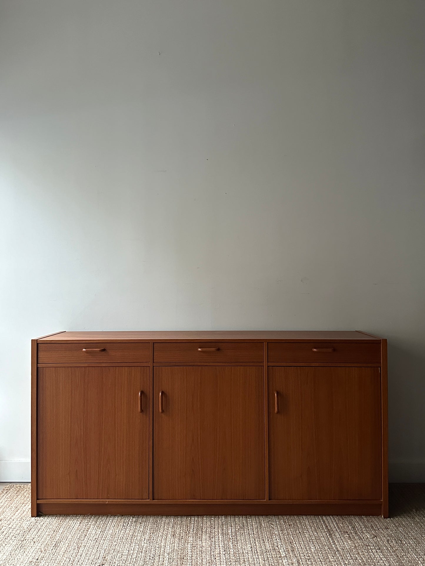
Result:
{"label": "rightmost of the sideboard's three brown wooden cabinet doors", "polygon": [[381,499],[380,383],[373,367],[269,368],[270,499]]}

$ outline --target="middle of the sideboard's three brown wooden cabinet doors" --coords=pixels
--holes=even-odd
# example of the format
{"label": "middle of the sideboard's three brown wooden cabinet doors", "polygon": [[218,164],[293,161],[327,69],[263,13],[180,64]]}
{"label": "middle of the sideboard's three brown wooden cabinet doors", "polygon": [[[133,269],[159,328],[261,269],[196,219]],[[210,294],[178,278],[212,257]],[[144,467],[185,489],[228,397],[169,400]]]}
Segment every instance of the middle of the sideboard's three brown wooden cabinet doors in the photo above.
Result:
{"label": "middle of the sideboard's three brown wooden cabinet doors", "polygon": [[262,367],[156,367],[154,499],[265,499],[264,421]]}

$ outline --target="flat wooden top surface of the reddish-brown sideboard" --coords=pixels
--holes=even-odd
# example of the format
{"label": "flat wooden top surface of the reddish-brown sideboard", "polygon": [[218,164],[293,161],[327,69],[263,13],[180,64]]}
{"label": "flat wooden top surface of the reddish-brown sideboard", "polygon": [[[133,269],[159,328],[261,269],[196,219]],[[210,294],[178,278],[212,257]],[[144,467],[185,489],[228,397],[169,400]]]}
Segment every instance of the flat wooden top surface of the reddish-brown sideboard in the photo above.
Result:
{"label": "flat wooden top surface of the reddish-brown sideboard", "polygon": [[155,342],[252,340],[282,342],[359,341],[379,342],[378,336],[362,331],[101,331],[58,332],[38,338],[38,342]]}

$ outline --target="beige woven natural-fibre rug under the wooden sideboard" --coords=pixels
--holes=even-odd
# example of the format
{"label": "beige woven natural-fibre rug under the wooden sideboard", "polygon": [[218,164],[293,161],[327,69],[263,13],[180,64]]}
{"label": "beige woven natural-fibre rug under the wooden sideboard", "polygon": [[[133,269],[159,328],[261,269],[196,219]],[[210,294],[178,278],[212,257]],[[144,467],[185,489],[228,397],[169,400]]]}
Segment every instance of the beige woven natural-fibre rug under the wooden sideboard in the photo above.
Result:
{"label": "beige woven natural-fibre rug under the wooden sideboard", "polygon": [[392,487],[393,517],[121,517],[29,514],[0,492],[1,566],[425,564],[425,488]]}

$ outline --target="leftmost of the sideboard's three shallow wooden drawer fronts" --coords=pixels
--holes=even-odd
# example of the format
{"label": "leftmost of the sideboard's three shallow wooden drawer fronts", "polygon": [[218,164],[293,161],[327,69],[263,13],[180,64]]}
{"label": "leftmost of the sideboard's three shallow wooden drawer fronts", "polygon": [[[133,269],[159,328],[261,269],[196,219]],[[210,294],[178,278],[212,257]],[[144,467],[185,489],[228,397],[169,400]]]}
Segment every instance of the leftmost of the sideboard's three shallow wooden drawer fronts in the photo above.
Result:
{"label": "leftmost of the sideboard's three shallow wooden drawer fronts", "polygon": [[39,344],[39,363],[149,362],[149,344],[140,342],[80,342]]}

